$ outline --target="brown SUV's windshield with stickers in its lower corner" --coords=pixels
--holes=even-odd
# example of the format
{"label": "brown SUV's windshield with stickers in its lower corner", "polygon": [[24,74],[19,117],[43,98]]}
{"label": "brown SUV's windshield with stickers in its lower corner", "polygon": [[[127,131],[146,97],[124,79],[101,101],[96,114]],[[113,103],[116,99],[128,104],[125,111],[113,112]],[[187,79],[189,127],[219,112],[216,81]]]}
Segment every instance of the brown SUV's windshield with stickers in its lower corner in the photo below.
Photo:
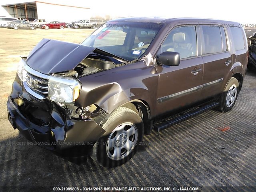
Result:
{"label": "brown SUV's windshield with stickers in its lower corner", "polygon": [[142,56],[161,27],[157,23],[107,22],[81,44],[132,61]]}

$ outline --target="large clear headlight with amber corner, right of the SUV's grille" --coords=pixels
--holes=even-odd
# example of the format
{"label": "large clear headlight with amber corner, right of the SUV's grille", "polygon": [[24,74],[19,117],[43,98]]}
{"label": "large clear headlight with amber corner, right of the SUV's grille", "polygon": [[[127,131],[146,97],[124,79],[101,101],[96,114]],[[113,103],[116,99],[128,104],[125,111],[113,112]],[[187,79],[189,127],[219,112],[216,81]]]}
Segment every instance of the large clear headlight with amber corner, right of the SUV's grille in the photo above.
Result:
{"label": "large clear headlight with amber corner, right of the SUV's grille", "polygon": [[74,102],[81,90],[81,84],[74,78],[50,76],[48,81],[48,96],[50,100],[60,103]]}

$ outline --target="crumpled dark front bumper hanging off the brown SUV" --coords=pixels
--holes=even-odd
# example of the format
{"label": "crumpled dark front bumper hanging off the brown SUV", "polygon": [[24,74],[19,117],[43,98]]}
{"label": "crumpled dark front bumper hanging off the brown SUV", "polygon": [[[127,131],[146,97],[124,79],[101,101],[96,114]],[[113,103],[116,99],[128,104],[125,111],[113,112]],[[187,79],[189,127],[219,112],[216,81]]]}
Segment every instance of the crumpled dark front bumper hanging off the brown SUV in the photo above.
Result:
{"label": "crumpled dark front bumper hanging off the brown SUV", "polygon": [[89,150],[105,132],[93,120],[74,120],[70,118],[66,110],[54,102],[52,103],[52,111],[49,112],[49,123],[39,126],[34,123],[36,121],[31,122],[26,118],[24,112],[22,114],[15,102],[17,99],[22,99],[25,103],[31,105],[43,102],[26,92],[18,76],[13,82],[12,93],[7,101],[8,120],[14,129],[18,129],[22,135],[38,146],[60,153],[76,147]]}

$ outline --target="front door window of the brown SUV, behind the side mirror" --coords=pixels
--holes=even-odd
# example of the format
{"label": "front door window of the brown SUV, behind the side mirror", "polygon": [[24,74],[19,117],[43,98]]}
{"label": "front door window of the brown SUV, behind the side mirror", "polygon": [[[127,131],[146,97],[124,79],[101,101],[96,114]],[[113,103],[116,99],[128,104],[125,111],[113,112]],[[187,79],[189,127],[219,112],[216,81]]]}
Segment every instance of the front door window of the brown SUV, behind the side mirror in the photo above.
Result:
{"label": "front door window of the brown SUV, behind the side mirror", "polygon": [[182,26],[171,30],[161,45],[159,55],[166,51],[180,53],[181,59],[196,56],[196,27]]}

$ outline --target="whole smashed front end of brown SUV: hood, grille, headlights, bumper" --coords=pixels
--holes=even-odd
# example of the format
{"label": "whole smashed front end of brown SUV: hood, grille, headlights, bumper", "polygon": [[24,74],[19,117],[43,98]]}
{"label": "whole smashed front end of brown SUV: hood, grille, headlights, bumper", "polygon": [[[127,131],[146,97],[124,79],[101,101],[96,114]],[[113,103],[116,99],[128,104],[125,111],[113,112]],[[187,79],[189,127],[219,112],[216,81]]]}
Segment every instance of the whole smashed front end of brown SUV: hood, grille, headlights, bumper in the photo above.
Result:
{"label": "whole smashed front end of brown SUV: hood, grille, headlights, bumper", "polygon": [[20,61],[7,102],[10,123],[44,148],[90,150],[104,134],[100,125],[109,114],[93,102],[76,102],[83,97],[79,78],[124,62],[92,47],[42,40]]}

